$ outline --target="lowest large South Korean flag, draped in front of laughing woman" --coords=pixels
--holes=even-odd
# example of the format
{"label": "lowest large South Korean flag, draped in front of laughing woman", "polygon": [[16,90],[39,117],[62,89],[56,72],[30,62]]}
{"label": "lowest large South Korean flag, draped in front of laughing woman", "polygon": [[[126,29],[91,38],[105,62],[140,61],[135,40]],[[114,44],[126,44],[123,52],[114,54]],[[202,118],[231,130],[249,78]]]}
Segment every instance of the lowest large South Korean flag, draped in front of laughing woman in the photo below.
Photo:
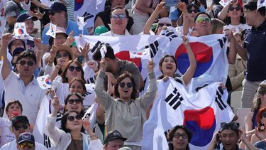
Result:
{"label": "lowest large South Korean flag, draped in front of laughing woman", "polygon": [[168,149],[165,133],[182,124],[193,133],[190,149],[205,150],[221,122],[230,122],[234,117],[226,103],[228,92],[221,89],[219,82],[192,93],[170,77],[167,82],[160,80],[158,92],[143,127],[143,150]]}

